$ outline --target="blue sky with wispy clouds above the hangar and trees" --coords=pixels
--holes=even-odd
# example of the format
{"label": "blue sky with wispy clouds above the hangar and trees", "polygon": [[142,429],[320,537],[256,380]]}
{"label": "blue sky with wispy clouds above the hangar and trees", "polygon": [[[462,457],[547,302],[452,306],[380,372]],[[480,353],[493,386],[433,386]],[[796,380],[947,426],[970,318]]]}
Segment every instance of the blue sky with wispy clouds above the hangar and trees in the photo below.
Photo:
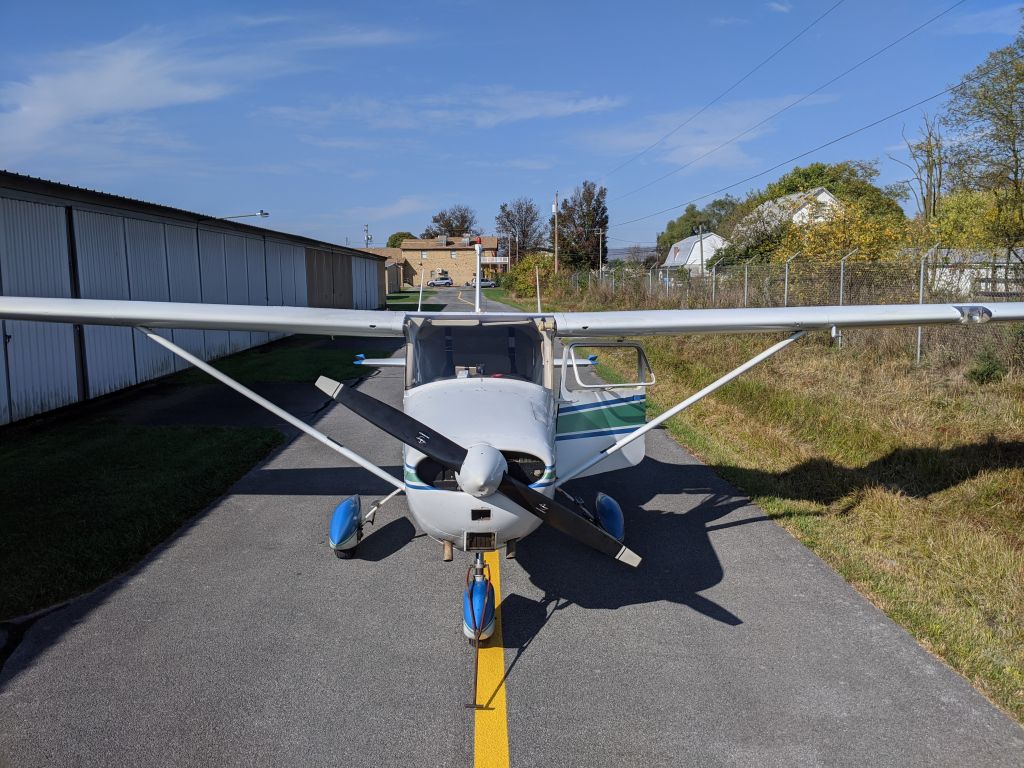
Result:
{"label": "blue sky with wispy clouds above the hangar and trees", "polygon": [[[968,0],[693,162],[955,2],[845,0],[636,157],[835,2],[8,2],[0,168],[214,216],[262,208],[270,218],[250,221],[352,245],[364,224],[383,245],[454,204],[492,231],[503,201],[545,212],[593,179],[608,187],[609,244],[652,243],[678,211],[621,222],[936,93],[1020,26],[1017,3]],[[882,181],[904,178],[887,154],[919,123],[801,163],[879,160]]]}

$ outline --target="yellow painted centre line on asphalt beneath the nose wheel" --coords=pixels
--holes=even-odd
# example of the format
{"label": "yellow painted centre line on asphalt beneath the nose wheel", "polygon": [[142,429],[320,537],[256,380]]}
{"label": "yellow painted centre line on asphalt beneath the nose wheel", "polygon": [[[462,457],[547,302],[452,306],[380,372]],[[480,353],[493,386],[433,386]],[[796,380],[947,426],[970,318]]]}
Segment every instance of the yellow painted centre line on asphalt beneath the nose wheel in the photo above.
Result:
{"label": "yellow painted centre line on asphalt beneath the nose wheel", "polygon": [[480,645],[476,673],[476,724],[473,751],[476,768],[508,768],[509,725],[505,705],[505,643],[502,640],[502,579],[500,552],[487,552],[483,561],[490,566],[495,587],[495,633]]}

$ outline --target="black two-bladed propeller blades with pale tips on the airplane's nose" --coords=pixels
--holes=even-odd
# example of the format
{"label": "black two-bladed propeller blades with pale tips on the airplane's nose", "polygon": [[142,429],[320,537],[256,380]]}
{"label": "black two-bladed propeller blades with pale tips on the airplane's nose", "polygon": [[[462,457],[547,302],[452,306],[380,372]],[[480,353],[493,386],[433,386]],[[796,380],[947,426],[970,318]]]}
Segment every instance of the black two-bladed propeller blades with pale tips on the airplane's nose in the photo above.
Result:
{"label": "black two-bladed propeller blades with pale tips on the airplane's nose", "polygon": [[[469,452],[404,412],[326,376],[316,380],[316,387],[371,424],[422,452],[446,469],[455,472],[462,469]],[[627,565],[636,567],[640,564],[640,557],[635,552],[588,520],[586,511],[575,502],[570,502],[572,506],[568,506],[549,499],[529,487],[522,470],[517,466],[512,465],[510,469],[520,476],[514,477],[508,471],[504,472],[498,483],[499,493],[581,544],[611,555]]]}

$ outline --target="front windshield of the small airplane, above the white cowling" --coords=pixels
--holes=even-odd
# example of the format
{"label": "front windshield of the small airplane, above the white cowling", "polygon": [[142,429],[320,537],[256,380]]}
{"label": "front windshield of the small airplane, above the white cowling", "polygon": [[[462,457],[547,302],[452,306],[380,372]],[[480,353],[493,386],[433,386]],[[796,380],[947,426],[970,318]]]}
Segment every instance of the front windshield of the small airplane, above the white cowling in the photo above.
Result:
{"label": "front windshield of the small airplane, above the white cowling", "polygon": [[425,324],[413,343],[413,386],[460,377],[544,380],[541,334],[532,325]]}

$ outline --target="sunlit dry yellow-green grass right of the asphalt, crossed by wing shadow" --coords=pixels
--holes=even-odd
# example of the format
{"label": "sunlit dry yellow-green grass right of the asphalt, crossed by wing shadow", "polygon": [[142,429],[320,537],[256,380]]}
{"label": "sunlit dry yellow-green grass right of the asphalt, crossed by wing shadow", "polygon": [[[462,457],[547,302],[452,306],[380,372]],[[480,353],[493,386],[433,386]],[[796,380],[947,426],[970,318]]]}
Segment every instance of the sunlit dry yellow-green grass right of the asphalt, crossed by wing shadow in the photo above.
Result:
{"label": "sunlit dry yellow-green grass right of the asphalt, crossed by wing shadow", "polygon": [[[649,416],[770,343],[647,340]],[[1015,377],[982,387],[808,340],[666,427],[1024,721],[1022,402]]]}

